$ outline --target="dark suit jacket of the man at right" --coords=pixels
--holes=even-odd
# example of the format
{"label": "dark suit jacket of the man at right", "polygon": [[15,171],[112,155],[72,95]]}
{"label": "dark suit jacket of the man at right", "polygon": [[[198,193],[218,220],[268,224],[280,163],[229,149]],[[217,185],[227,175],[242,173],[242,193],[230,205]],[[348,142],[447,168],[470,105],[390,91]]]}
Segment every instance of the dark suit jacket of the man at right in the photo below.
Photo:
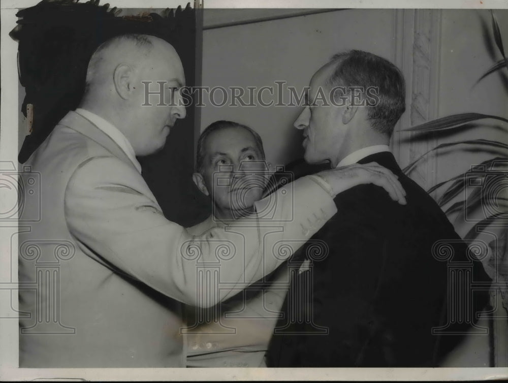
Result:
{"label": "dark suit jacket of the man at right", "polygon": [[[402,173],[393,155],[377,153],[360,163],[373,161],[399,177],[407,205],[375,185],[335,198],[337,214],[312,238],[326,242],[328,255],[314,256],[310,270],[293,280],[267,352],[269,367],[438,365],[462,336],[432,334],[432,328],[448,323],[449,264],[433,256],[436,241],[450,240],[452,261],[472,266],[473,281],[490,283],[481,263],[466,257],[467,246],[446,215]],[[307,250],[303,253],[311,254]],[[295,304],[302,291],[308,301]],[[488,292],[474,292],[472,298],[468,310],[474,318]],[[469,326],[455,321],[449,330]]]}

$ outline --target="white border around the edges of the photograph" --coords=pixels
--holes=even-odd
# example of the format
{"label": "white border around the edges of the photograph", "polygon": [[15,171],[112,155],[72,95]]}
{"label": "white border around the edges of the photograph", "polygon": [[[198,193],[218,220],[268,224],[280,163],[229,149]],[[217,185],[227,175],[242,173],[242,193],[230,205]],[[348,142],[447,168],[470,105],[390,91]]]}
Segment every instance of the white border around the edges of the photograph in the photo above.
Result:
{"label": "white border around the edges of the photograph", "polygon": [[[200,0],[201,1],[201,0]],[[84,1],[83,1],[84,2]],[[1,28],[1,113],[0,113],[0,161],[10,161],[16,168],[18,156],[18,73],[17,42],[9,37],[16,25],[19,8],[27,8],[39,0],[3,0],[0,6]],[[106,4],[102,0],[101,4]],[[111,0],[117,8],[176,8],[187,2],[177,0]],[[191,2],[193,3],[193,2]],[[191,4],[192,5],[192,4]],[[205,8],[473,8],[506,9],[504,0],[363,0],[359,3],[345,0],[324,0],[319,4],[310,0],[205,0]],[[0,188],[0,208],[9,203],[3,197],[6,190]],[[12,224],[11,224],[12,225]],[[5,222],[0,222],[0,265],[17,260],[11,253],[11,238]],[[17,243],[14,243],[17,249]],[[16,250],[15,250],[16,251]],[[12,258],[11,258],[12,257]],[[12,262],[17,281],[17,262]],[[0,278],[6,275],[0,271]],[[0,279],[2,281],[3,279]],[[7,302],[7,304],[10,304]],[[17,302],[16,302],[17,304]],[[5,302],[0,302],[0,316]],[[0,320],[0,380],[32,379],[84,379],[84,380],[486,380],[508,377],[508,368],[18,368],[18,321],[14,318]]]}

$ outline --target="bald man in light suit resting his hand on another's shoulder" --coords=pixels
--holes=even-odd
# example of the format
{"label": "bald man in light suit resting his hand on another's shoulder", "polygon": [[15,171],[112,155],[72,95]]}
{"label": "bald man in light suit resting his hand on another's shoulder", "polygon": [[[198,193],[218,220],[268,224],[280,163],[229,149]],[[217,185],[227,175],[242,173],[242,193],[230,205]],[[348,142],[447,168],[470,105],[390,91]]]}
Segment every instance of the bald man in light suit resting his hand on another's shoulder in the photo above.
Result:
{"label": "bald man in light suit resting his hand on another's shoulder", "polygon": [[[373,182],[403,202],[390,172],[355,166],[279,190],[273,215],[279,229],[258,219],[265,199],[227,230],[190,235],[164,217],[136,160],[161,149],[185,117],[175,49],[155,37],[116,37],[92,55],[86,81],[80,107],[27,162],[41,175],[42,204],[26,199],[23,214],[41,209],[41,220],[19,238],[19,281],[38,283],[19,294],[20,310],[30,313],[20,319],[20,367],[183,367],[181,302],[218,302],[196,267],[206,272],[219,246],[235,254],[220,270],[233,291],[235,281],[256,281],[283,262],[265,249],[319,230],[342,190]],[[169,105],[147,106],[142,81],[165,81]],[[38,249],[36,257],[29,246]],[[48,265],[56,265],[54,272],[41,271]],[[220,299],[233,294],[222,293]]]}

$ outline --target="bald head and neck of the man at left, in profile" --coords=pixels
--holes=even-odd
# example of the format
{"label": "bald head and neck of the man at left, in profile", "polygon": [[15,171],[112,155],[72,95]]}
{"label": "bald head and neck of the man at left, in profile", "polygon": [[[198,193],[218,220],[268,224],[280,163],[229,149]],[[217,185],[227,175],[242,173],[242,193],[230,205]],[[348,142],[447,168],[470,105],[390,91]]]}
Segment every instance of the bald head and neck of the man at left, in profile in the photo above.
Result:
{"label": "bald head and neck of the man at left, in profile", "polygon": [[182,63],[168,42],[149,35],[121,35],[93,53],[80,107],[119,129],[136,155],[164,146],[170,128],[185,117]]}

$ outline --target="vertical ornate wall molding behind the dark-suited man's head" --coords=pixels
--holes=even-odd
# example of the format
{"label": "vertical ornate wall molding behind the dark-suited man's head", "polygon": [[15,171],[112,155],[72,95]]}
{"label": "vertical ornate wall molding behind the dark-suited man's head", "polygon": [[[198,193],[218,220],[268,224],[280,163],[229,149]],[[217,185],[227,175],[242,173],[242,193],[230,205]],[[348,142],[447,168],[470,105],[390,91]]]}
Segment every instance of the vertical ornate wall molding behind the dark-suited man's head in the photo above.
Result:
{"label": "vertical ornate wall molding behind the dark-suited man's head", "polygon": [[[406,79],[406,113],[400,128],[415,126],[438,116],[440,10],[396,11],[396,59]],[[432,137],[414,141],[414,133],[401,133],[394,149],[401,166],[415,161],[436,145]],[[415,168],[411,178],[428,189],[436,182],[436,161],[430,154]]]}

